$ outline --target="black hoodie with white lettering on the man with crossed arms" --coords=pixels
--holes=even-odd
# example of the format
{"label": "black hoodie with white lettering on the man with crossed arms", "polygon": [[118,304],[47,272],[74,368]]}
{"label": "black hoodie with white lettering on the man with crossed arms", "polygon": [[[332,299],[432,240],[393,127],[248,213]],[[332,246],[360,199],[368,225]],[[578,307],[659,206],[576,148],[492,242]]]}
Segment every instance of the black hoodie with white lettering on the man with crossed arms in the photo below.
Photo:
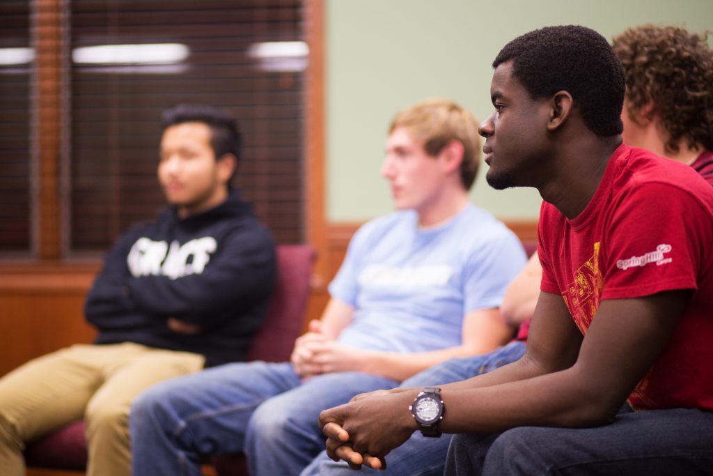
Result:
{"label": "black hoodie with white lettering on the man with crossed arms", "polygon": [[[89,292],[97,344],[133,342],[200,353],[206,365],[245,360],[275,284],[275,242],[237,191],[209,211],[123,234]],[[198,325],[176,333],[169,318]]]}

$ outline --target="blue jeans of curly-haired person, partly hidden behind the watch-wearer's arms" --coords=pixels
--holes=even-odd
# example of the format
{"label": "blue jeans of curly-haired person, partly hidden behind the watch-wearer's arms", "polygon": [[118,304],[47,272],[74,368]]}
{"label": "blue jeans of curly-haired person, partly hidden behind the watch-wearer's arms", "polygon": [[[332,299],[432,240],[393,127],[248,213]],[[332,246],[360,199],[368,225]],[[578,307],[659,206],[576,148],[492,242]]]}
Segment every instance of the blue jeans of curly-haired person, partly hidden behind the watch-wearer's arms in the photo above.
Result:
{"label": "blue jeans of curly-haired person, partly hidden behind the watch-wearer's arms", "polygon": [[[458,382],[476,375],[488,373],[498,367],[515,362],[525,353],[525,343],[514,341],[486,355],[454,358],[424,370],[401,383],[401,387],[427,387],[443,383]],[[427,438],[420,432],[411,435],[403,445],[386,456],[386,470],[372,470],[362,467],[364,474],[426,476],[442,475],[446,465],[446,453],[451,435]],[[354,476],[347,463],[334,462],[327,452],[322,452],[304,469],[301,476],[344,475]]]}

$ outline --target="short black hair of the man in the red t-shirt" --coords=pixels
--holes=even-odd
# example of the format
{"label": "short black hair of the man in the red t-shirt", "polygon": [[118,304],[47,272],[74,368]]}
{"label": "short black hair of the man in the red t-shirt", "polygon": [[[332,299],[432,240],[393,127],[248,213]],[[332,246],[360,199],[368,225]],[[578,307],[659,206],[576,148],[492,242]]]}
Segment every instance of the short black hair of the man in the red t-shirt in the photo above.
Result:
{"label": "short black hair of the man in the red t-shirt", "polygon": [[548,26],[518,36],[493,68],[513,61],[513,76],[533,99],[568,91],[586,126],[597,136],[624,128],[624,70],[604,36],[579,25]]}

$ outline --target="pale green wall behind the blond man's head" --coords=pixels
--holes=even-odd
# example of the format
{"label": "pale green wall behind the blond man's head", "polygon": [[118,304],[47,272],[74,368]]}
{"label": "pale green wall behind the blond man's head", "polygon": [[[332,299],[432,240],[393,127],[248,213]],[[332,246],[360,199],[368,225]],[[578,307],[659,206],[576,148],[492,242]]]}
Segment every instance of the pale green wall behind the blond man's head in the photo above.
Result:
{"label": "pale green wall behind the blond man's head", "polygon": [[[337,222],[393,209],[379,168],[396,111],[445,96],[478,120],[491,113],[490,65],[515,36],[556,24],[607,39],[645,23],[713,29],[713,0],[326,0],[326,8],[327,219]],[[486,168],[473,201],[500,218],[535,220],[538,193],[494,191]]]}

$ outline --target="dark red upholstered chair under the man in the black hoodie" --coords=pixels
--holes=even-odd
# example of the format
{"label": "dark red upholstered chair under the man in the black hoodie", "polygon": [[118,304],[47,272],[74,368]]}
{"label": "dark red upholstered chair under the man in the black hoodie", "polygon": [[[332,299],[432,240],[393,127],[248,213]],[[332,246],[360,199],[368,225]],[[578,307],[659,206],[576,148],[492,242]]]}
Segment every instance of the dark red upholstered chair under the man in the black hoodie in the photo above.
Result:
{"label": "dark red upholstered chair under the man in the black hoodie", "polygon": [[[314,248],[311,245],[277,247],[277,283],[272,304],[260,333],[248,352],[249,360],[284,362],[289,360],[294,340],[304,325],[309,297]],[[84,422],[73,422],[44,437],[29,442],[25,452],[27,467],[54,470],[86,470],[87,447]],[[221,476],[247,475],[245,457],[231,455],[212,460]]]}

